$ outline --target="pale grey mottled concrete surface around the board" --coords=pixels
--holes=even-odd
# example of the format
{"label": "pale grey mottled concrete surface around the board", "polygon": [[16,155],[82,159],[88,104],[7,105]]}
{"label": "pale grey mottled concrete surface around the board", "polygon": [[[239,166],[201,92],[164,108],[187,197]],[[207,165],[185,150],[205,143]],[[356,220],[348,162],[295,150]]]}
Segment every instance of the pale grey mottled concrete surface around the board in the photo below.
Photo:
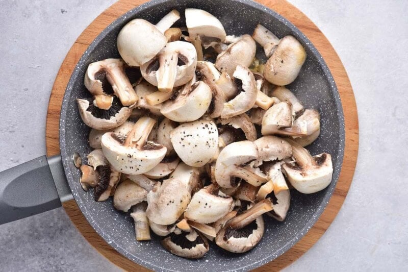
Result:
{"label": "pale grey mottled concrete surface around the board", "polygon": [[[287,271],[408,270],[408,2],[290,0],[336,48],[359,109],[360,150],[343,208]],[[113,0],[2,1],[0,170],[45,154],[58,68]],[[0,271],[118,270],[62,208],[0,226]]]}

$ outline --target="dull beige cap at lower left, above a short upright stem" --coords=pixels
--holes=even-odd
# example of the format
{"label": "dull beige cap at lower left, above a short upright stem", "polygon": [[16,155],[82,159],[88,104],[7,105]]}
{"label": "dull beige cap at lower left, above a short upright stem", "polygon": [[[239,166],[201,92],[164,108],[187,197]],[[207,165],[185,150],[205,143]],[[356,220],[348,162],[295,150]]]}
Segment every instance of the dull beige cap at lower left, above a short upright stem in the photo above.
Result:
{"label": "dull beige cap at lower left, above a short upright stem", "polygon": [[113,206],[127,212],[129,209],[146,200],[147,191],[131,180],[122,181],[113,195]]}

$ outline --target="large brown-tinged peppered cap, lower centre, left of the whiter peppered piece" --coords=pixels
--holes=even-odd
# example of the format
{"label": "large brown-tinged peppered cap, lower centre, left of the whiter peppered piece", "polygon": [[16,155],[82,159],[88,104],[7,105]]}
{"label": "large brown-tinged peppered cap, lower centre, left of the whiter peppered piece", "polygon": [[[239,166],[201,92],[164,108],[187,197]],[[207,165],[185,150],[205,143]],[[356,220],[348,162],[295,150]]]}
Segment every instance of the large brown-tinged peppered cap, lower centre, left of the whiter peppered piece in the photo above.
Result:
{"label": "large brown-tinged peppered cap, lower centre, left of the whiter peppered piece", "polygon": [[156,224],[173,224],[184,213],[190,200],[190,192],[179,179],[164,180],[147,194],[146,215]]}

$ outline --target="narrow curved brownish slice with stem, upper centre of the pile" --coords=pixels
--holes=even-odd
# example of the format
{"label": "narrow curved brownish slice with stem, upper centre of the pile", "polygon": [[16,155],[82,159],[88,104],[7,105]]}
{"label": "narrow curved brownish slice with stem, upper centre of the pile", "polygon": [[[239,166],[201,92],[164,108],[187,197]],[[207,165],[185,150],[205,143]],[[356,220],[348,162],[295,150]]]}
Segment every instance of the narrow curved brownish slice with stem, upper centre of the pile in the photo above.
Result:
{"label": "narrow curved brownish slice with stem, upper centre of the pile", "polygon": [[212,91],[211,104],[207,110],[211,118],[217,118],[221,115],[225,102],[224,92],[215,83],[220,77],[220,73],[214,64],[208,61],[197,62],[196,80],[205,82]]}

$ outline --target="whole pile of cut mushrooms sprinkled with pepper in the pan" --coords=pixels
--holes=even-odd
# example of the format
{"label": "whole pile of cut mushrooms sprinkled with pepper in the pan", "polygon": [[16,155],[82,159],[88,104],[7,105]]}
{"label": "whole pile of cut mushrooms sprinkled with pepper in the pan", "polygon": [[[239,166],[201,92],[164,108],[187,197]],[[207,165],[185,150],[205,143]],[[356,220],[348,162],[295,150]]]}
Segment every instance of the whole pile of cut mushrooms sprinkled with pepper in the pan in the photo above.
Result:
{"label": "whole pile of cut mushrooms sprinkled with pepper in the pan", "polygon": [[78,107],[94,150],[80,182],[129,212],[138,241],[152,231],[185,258],[205,255],[209,241],[243,253],[261,240],[263,214],[285,220],[288,182],[307,194],[331,182],[330,155],[304,149],[319,137],[319,112],[284,87],[306,53],[261,24],[235,37],[206,11],[185,17],[181,28],[176,10],[156,24],[131,20],[117,37],[121,59],[89,65],[92,97]]}

